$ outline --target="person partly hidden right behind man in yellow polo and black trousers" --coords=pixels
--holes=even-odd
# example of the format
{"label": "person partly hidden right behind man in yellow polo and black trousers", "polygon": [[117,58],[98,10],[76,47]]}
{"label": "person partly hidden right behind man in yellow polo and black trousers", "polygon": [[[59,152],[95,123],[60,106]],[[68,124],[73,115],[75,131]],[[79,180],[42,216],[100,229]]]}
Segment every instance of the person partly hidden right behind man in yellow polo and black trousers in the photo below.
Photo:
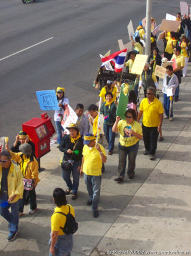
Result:
{"label": "person partly hidden right behind man in yellow polo and black trousers", "polygon": [[147,88],[149,88],[150,86],[152,86],[154,89],[158,89],[158,82],[157,82],[156,76],[152,70],[149,70],[149,63],[147,62],[144,65],[144,69],[140,76],[140,81],[138,86],[139,88],[143,86],[144,98],[147,97],[147,94],[146,94]]}

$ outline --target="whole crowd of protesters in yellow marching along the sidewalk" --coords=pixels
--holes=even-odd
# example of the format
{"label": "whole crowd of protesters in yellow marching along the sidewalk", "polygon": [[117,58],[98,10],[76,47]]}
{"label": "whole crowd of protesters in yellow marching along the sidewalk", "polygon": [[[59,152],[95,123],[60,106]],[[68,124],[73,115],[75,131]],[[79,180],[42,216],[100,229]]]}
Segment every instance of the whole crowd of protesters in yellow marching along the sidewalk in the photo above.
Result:
{"label": "whole crowd of protesters in yellow marching along the sidewalk", "polygon": [[[61,125],[66,104],[69,104],[65,97],[65,89],[58,87],[56,95],[60,110],[56,110],[54,121],[57,129],[57,147],[63,152],[61,160],[62,177],[66,182],[66,190],[57,188],[54,190],[53,198],[57,205],[55,212],[68,213],[66,195],[72,192],[72,200],[78,197],[79,176],[84,174],[84,182],[87,186],[88,200],[87,205],[91,205],[93,217],[97,218],[98,203],[100,201],[101,175],[104,172],[104,163],[107,161],[106,150],[104,149],[104,138],[106,138],[108,155],[115,152],[115,137],[119,132],[119,161],[118,176],[115,182],[124,182],[125,170],[128,157],[127,174],[129,179],[135,176],[135,159],[137,157],[139,140],[143,138],[144,155],[149,155],[150,160],[155,159],[158,135],[162,141],[162,121],[163,119],[173,120],[172,103],[180,100],[181,77],[186,77],[187,62],[189,62],[189,40],[191,39],[191,21],[190,17],[184,16],[181,19],[180,13],[177,13],[177,20],[181,20],[180,28],[177,32],[166,31],[164,38],[164,56],[168,61],[175,59],[177,67],[173,70],[171,65],[167,65],[167,74],[163,79],[162,92],[164,94],[164,107],[159,101],[159,77],[155,76],[156,65],[161,65],[162,61],[159,49],[156,46],[156,38],[151,34],[152,51],[144,66],[143,73],[135,80],[133,89],[128,92],[128,104],[124,110],[125,118],[116,116],[118,107],[118,94],[121,84],[116,81],[101,80],[97,77],[96,85],[99,84],[102,104],[100,111],[96,104],[88,107],[88,115],[84,114],[82,103],[76,104],[75,112],[78,117],[76,124],[70,124],[67,132]],[[152,26],[156,27],[156,22],[152,18]],[[184,29],[187,26],[187,35]],[[131,73],[134,59],[137,53],[143,54],[144,28],[140,22],[135,31],[133,40],[134,50],[128,53],[128,60],[125,63],[127,71]],[[143,88],[144,99],[139,106],[139,90]],[[167,95],[168,89],[172,89],[173,97]],[[139,110],[137,107],[139,106]],[[165,112],[165,117],[164,117]],[[142,125],[139,123],[143,116]],[[13,164],[11,161],[17,163]],[[29,214],[37,210],[35,188],[38,185],[38,161],[35,157],[35,145],[27,136],[26,132],[20,131],[16,135],[16,141],[10,148],[5,144],[5,150],[0,153],[0,182],[1,194],[0,200],[1,215],[9,222],[10,233],[8,240],[14,240],[18,233],[19,215],[23,215],[24,204],[30,203]],[[71,176],[73,181],[71,180]],[[23,186],[23,180],[31,183],[30,189]],[[11,207],[11,213],[9,208]],[[72,206],[71,213],[74,216]],[[55,246],[59,251],[58,240],[68,239],[68,255],[72,250],[72,236],[67,236],[63,230],[66,218],[60,215],[53,215],[51,218],[51,241],[50,255],[55,254]],[[61,248],[66,250],[66,241]]]}

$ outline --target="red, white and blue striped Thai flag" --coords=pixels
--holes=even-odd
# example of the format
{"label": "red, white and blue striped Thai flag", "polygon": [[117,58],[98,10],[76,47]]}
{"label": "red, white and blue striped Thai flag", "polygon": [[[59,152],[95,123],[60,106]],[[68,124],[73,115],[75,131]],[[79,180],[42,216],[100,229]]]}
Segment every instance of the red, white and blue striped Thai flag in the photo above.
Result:
{"label": "red, white and blue striped Thai flag", "polygon": [[124,49],[124,50],[115,52],[112,55],[109,55],[107,57],[101,58],[101,61],[102,61],[101,66],[106,65],[107,62],[112,62],[113,66],[115,68],[115,72],[119,73],[124,68],[126,55],[127,55],[127,49]]}

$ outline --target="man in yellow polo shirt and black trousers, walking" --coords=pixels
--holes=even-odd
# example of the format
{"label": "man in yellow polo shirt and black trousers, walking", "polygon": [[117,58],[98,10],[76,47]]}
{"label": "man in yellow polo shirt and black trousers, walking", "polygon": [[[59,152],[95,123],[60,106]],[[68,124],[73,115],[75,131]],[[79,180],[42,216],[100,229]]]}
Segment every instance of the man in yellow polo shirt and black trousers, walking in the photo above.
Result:
{"label": "man in yellow polo shirt and black trousers, walking", "polygon": [[137,122],[140,121],[143,115],[143,141],[144,141],[144,155],[150,155],[150,160],[155,159],[155,152],[157,148],[157,140],[159,132],[161,131],[163,121],[163,107],[161,101],[155,97],[155,89],[153,87],[147,88],[147,98],[141,101]]}

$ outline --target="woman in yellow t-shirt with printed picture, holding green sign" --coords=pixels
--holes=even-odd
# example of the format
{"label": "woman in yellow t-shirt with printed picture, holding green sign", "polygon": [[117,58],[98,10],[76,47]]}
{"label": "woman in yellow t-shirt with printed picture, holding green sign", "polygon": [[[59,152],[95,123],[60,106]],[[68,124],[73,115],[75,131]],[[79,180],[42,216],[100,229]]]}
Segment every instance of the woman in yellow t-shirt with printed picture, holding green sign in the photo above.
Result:
{"label": "woman in yellow t-shirt with printed picture, holding green sign", "polygon": [[119,116],[116,117],[115,124],[112,131],[120,134],[119,138],[119,165],[118,177],[114,180],[116,182],[123,182],[125,177],[125,168],[128,156],[128,170],[127,174],[130,179],[134,178],[135,174],[135,159],[138,152],[139,140],[143,138],[141,125],[136,121],[137,115],[133,109],[128,109],[125,112],[125,120],[121,120]]}

